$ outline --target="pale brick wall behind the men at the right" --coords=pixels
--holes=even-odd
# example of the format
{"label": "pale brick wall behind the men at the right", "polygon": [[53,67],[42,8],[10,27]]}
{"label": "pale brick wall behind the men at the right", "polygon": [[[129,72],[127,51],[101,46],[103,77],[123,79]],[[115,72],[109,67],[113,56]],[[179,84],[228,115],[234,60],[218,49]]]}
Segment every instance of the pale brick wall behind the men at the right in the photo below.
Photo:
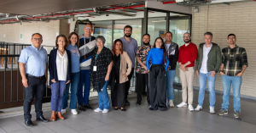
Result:
{"label": "pale brick wall behind the men at the right", "polygon": [[[200,6],[199,13],[193,13],[192,42],[199,45],[204,42],[203,34],[211,31],[212,42],[220,48],[227,47],[227,36],[236,34],[239,47],[247,50],[248,68],[242,75],[241,95],[256,97],[256,2],[221,3],[210,6]],[[199,86],[195,75],[194,85]],[[223,91],[221,75],[217,75],[216,90]]]}

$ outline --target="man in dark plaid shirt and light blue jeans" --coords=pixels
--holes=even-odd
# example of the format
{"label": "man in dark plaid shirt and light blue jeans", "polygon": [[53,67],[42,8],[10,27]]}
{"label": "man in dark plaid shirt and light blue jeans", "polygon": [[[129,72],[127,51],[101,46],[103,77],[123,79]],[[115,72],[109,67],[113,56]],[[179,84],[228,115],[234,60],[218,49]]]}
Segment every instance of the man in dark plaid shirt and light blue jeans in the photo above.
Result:
{"label": "man in dark plaid shirt and light blue jeans", "polygon": [[236,45],[236,35],[228,36],[229,47],[222,49],[222,64],[219,73],[222,75],[224,88],[222,108],[218,115],[227,115],[230,105],[230,85],[233,88],[235,118],[241,119],[241,75],[247,69],[247,52],[245,48]]}

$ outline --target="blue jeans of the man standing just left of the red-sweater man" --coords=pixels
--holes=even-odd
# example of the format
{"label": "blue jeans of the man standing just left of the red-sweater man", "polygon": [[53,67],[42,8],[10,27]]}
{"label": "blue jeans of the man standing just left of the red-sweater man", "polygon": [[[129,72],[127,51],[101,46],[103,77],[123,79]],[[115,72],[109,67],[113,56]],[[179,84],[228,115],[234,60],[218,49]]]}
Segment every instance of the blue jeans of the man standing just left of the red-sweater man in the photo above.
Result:
{"label": "blue jeans of the man standing just left of the red-sweater man", "polygon": [[175,69],[170,69],[166,72],[168,101],[173,100],[173,81],[175,78],[175,73]]}

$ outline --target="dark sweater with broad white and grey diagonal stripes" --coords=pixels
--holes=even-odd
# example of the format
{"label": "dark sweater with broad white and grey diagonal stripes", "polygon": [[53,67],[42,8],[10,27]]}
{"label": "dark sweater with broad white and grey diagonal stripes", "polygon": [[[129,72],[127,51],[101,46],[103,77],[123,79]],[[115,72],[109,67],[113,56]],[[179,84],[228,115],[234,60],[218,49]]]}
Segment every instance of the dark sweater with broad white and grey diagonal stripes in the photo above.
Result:
{"label": "dark sweater with broad white and grey diagonal stripes", "polygon": [[79,40],[79,53],[80,53],[80,69],[90,69],[91,55],[96,47],[96,37],[84,36]]}

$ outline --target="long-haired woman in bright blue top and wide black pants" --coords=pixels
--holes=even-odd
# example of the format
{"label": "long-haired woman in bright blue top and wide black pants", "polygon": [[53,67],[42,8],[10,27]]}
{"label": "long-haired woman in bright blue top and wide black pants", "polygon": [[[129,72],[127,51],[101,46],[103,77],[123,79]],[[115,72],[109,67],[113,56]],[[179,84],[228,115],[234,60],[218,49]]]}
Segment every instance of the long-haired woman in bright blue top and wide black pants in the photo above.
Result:
{"label": "long-haired woman in bright blue top and wide black pants", "polygon": [[[166,47],[162,38],[157,37],[154,41],[154,48],[148,52],[146,60],[149,69],[149,110],[166,111],[166,70],[169,66]],[[149,60],[151,66],[149,67]],[[165,65],[166,64],[166,65]]]}

